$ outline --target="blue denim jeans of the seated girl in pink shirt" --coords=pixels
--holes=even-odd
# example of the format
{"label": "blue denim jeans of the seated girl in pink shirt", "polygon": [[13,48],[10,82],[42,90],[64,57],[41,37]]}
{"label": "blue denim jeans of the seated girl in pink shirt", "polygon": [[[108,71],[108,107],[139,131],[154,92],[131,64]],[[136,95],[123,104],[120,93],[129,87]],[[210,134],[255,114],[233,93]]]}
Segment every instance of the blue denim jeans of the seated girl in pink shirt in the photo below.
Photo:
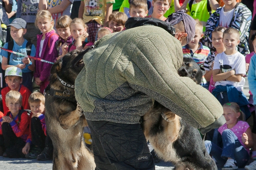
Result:
{"label": "blue denim jeans of the seated girl in pink shirt", "polygon": [[205,141],[206,151],[217,160],[220,166],[224,166],[226,160],[232,158],[236,160],[238,167],[244,167],[249,160],[249,154],[230,129],[223,131],[222,142],[223,149],[211,141]]}

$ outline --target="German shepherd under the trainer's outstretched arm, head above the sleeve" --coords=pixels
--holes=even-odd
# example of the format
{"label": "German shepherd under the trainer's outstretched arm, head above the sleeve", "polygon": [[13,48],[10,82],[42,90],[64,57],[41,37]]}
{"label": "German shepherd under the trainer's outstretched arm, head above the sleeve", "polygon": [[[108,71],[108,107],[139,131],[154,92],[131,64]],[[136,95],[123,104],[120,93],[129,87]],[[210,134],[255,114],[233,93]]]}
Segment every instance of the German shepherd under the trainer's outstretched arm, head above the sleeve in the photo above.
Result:
{"label": "German shepherd under the trainer's outstretched arm, head above the sleeve", "polygon": [[[190,58],[184,58],[178,70],[180,76],[188,76],[197,84],[204,72]],[[142,117],[142,129],[157,156],[172,162],[176,170],[217,170],[210,155],[204,155],[199,131],[158,102]]]}

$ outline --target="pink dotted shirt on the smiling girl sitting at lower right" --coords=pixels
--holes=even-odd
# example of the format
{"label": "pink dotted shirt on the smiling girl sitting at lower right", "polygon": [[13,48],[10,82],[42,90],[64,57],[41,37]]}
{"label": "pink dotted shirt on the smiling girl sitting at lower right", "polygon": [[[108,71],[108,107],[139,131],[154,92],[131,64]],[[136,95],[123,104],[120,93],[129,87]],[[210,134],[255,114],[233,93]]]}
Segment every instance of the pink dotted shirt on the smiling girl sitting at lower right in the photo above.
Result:
{"label": "pink dotted shirt on the smiling girl sitting at lower right", "polygon": [[[244,132],[246,132],[246,130],[249,128],[249,124],[246,121],[238,121],[236,123],[236,125],[234,127],[232,127],[230,130],[232,132],[234,132],[234,134],[236,135],[236,137],[238,138],[238,140],[240,141],[240,143],[242,144],[242,146],[248,151],[248,153],[250,154],[250,148],[246,147],[244,145],[244,143],[242,142],[242,135]],[[227,124],[225,123],[224,125],[222,125],[221,127],[219,127],[218,131],[220,132],[220,134],[222,135],[223,131],[228,129]]]}

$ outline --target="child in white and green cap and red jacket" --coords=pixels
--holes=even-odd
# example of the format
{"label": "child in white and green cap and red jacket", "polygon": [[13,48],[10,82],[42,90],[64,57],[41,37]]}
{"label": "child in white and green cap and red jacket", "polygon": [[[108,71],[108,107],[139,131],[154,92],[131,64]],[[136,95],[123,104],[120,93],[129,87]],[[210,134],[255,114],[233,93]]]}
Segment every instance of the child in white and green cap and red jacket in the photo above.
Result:
{"label": "child in white and green cap and red jacket", "polygon": [[8,87],[5,87],[1,90],[2,102],[4,113],[8,111],[8,106],[6,106],[6,94],[10,90],[15,90],[20,92],[22,96],[21,109],[30,109],[28,104],[28,98],[31,94],[30,90],[23,86],[22,83],[22,70],[16,66],[8,67],[5,70],[5,82],[8,84]]}

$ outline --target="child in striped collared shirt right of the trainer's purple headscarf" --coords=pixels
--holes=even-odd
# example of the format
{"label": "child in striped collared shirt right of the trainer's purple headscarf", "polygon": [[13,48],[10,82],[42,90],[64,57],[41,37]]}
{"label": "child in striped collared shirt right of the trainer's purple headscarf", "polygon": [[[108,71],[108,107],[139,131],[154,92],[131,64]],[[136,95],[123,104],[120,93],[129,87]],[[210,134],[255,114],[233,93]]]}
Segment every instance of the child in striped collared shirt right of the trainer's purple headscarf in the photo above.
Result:
{"label": "child in striped collared shirt right of the trainer's purple headscarf", "polygon": [[[210,49],[199,42],[203,36],[203,25],[196,19],[196,32],[194,39],[182,47],[183,57],[192,58],[200,67],[204,66],[204,61],[211,55]],[[208,84],[204,76],[202,78],[201,86],[208,89]]]}

